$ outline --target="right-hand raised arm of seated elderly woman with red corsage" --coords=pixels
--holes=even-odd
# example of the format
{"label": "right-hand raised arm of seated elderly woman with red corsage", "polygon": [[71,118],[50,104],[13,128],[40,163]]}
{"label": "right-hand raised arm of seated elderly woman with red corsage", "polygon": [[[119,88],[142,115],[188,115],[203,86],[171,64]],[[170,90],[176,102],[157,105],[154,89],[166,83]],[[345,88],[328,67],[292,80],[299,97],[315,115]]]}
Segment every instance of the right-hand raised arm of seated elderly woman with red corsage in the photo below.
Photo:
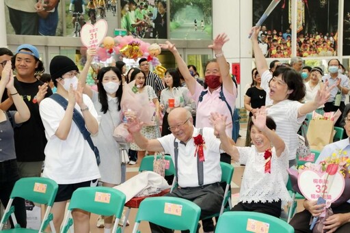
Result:
{"label": "right-hand raised arm of seated elderly woman with red corsage", "polygon": [[276,155],[279,157],[284,151],[286,145],[284,144],[283,139],[280,138],[280,136],[278,136],[277,133],[275,133],[275,131],[272,131],[271,129],[267,128],[265,106],[260,107],[260,109],[256,111],[256,115],[252,116],[252,121],[254,123],[254,126],[256,126],[256,128],[258,128],[259,131],[265,133],[266,137],[275,147]]}

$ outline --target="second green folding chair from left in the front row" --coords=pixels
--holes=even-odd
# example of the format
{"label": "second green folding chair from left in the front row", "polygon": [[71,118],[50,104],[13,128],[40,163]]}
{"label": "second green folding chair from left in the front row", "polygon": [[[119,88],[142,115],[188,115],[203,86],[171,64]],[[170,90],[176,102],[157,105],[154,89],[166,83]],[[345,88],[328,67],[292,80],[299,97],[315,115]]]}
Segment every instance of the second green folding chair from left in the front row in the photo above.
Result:
{"label": "second green folding chair from left in the front row", "polygon": [[121,232],[118,228],[119,219],[122,216],[125,194],[110,187],[84,187],[74,191],[68,206],[68,213],[64,219],[61,233],[68,232],[73,224],[72,210],[75,208],[85,210],[96,215],[114,216],[113,233]]}

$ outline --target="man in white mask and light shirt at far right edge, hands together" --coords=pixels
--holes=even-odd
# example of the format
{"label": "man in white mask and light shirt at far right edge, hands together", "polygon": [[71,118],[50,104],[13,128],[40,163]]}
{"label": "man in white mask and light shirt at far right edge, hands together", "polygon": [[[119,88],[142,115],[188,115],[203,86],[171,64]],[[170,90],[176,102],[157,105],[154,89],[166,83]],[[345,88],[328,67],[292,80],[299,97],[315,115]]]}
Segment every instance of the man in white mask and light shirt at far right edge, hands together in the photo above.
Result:
{"label": "man in white mask and light shirt at far right edge, hands together", "polygon": [[[336,85],[333,90],[331,90],[331,96],[328,99],[328,102],[325,103],[323,110],[325,112],[337,111],[338,109],[343,112],[345,109],[345,98],[349,92],[349,79],[344,75],[338,72],[340,68],[340,61],[338,59],[330,59],[328,61],[328,71],[329,74],[326,74],[322,77],[323,83],[328,81],[329,86]],[[340,126],[339,118],[335,126]]]}

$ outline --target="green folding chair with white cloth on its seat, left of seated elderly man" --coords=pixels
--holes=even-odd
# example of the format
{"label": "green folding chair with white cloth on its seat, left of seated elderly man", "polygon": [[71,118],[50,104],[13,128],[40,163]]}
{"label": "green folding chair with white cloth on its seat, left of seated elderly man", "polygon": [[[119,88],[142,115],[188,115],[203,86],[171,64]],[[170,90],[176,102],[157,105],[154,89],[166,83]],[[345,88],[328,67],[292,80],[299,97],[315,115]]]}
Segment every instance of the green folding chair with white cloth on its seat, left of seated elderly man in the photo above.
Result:
{"label": "green folding chair with white cloth on its seat, left of seated elderly man", "polygon": [[[157,156],[157,159],[159,157],[160,156]],[[174,176],[174,180],[173,180],[173,186],[174,186],[175,180],[176,180],[176,172],[175,172],[174,163],[172,161],[172,156],[165,154],[165,160],[169,161],[169,168],[165,169],[165,176],[172,176],[172,175]],[[144,156],[144,159],[142,159],[142,162],[139,165],[139,172],[153,171],[153,161],[154,161],[154,156],[153,155]],[[165,193],[161,193],[160,195],[164,195],[164,194]],[[133,197],[133,198],[135,198],[135,197]],[[146,197],[144,197],[144,199],[145,198]],[[137,199],[140,200],[140,199],[142,199],[142,197],[137,197]],[[140,200],[140,202],[143,202],[143,200]],[[125,220],[124,220],[124,223],[123,223],[123,230],[122,230],[122,232],[124,232],[124,230],[125,230],[126,222],[129,219],[131,208],[139,208],[139,203],[140,202],[135,203],[135,202],[132,202],[132,200],[127,202],[126,207],[128,207],[128,209],[126,210],[126,213],[125,213]],[[131,203],[133,203],[133,204],[131,204]]]}

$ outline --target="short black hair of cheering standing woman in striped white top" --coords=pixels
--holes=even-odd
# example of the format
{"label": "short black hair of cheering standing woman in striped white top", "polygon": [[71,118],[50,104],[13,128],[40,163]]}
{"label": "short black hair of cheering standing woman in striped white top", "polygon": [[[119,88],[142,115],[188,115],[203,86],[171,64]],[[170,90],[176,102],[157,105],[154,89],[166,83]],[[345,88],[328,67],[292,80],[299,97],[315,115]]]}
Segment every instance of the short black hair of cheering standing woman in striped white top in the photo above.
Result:
{"label": "short black hair of cheering standing woman in striped white top", "polygon": [[273,72],[272,76],[278,77],[280,74],[282,74],[282,80],[284,83],[286,83],[288,90],[293,90],[293,92],[288,95],[288,100],[299,101],[304,98],[306,95],[306,89],[300,74],[294,69],[285,65],[278,66]]}

